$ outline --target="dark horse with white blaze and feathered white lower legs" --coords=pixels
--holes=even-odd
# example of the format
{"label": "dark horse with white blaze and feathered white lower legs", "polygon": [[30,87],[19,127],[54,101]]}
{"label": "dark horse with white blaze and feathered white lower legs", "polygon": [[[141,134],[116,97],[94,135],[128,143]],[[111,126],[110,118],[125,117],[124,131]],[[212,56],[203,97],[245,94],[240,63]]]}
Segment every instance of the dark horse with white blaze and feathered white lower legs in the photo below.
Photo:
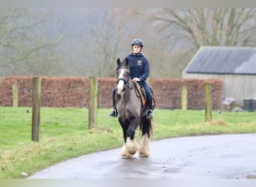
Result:
{"label": "dark horse with white blaze and feathered white lower legs", "polygon": [[[118,111],[118,121],[123,129],[124,146],[121,157],[130,159],[137,152],[141,157],[150,156],[150,136],[152,135],[152,119],[147,119],[147,107],[141,102],[135,83],[129,77],[129,61],[117,60],[116,69],[117,91],[116,108]],[[137,83],[138,84],[138,83]],[[153,89],[150,87],[153,95]],[[135,131],[140,129],[141,140],[137,144],[135,141]]]}

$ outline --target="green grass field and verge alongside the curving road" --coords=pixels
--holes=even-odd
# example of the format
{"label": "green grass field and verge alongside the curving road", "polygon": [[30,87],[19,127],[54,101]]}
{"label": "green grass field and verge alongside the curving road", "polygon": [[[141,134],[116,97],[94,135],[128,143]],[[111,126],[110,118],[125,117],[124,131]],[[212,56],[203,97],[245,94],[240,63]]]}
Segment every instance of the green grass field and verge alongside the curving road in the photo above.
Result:
{"label": "green grass field and verge alongside the curving road", "polygon": [[[22,178],[22,172],[30,175],[66,159],[121,147],[121,126],[107,117],[109,111],[99,109],[97,126],[88,129],[85,108],[41,108],[40,141],[33,142],[31,108],[0,107],[0,178]],[[256,132],[256,112],[213,111],[213,120],[204,123],[204,111],[154,111],[152,140],[246,132]]]}

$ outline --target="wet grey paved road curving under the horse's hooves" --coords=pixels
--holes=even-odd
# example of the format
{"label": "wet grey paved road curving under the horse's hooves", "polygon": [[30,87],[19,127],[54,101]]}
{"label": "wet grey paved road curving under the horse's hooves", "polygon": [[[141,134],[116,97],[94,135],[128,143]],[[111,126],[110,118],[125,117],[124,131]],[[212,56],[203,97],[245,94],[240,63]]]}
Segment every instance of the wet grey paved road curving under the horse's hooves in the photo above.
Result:
{"label": "wet grey paved road curving under the horse's hooves", "polygon": [[256,134],[150,142],[150,157],[121,159],[121,148],[80,156],[31,179],[246,179],[256,176]]}

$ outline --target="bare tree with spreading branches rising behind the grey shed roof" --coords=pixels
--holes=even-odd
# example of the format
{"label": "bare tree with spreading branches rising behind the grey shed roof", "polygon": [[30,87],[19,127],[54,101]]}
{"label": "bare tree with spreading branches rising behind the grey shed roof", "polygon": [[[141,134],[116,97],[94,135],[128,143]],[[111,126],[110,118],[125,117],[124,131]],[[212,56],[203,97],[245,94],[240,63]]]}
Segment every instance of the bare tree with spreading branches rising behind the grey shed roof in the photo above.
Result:
{"label": "bare tree with spreading branches rising behind the grey shed roof", "polygon": [[189,43],[194,51],[200,46],[255,46],[254,8],[164,8],[144,16],[168,29],[174,43]]}

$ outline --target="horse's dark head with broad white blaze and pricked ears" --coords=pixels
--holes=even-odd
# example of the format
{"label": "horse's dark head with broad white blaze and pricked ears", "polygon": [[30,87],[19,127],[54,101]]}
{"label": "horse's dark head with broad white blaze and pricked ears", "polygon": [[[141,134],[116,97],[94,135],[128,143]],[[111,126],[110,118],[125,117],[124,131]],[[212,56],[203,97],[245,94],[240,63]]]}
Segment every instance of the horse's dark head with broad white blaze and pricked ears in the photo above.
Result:
{"label": "horse's dark head with broad white blaze and pricked ears", "polygon": [[118,82],[118,94],[124,94],[124,86],[128,84],[129,82],[129,61],[127,58],[124,59],[124,61],[120,61],[120,58],[118,58],[117,61],[118,67],[116,70],[117,75],[117,82]]}

